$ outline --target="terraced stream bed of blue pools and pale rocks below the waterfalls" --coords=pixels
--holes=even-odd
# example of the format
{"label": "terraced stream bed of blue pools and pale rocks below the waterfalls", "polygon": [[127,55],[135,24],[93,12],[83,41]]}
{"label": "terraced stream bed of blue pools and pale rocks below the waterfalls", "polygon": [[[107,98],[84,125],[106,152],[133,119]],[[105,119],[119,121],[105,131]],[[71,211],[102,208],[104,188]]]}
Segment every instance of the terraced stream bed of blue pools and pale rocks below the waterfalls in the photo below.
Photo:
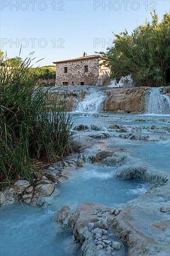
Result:
{"label": "terraced stream bed of blue pools and pale rocks below the waterfalls", "polygon": [[73,119],[80,153],[0,193],[1,255],[169,256],[169,116]]}

